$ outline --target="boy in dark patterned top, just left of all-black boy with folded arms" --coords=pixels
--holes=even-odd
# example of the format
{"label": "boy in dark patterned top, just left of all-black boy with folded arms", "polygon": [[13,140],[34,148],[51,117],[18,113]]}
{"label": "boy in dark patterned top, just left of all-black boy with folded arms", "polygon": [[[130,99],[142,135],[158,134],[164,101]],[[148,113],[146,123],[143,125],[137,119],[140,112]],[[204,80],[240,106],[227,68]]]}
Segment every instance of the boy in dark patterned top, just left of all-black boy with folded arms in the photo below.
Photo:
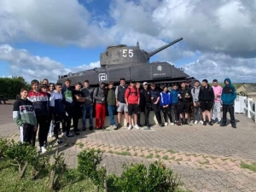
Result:
{"label": "boy in dark patterned top, just left of all-black boy with folded arms", "polygon": [[63,127],[62,127],[62,136],[71,138],[74,135],[70,132],[71,120],[73,119],[74,113],[74,101],[72,91],[73,89],[70,87],[71,80],[66,79],[65,85],[62,87],[61,93],[63,96],[63,103],[65,106],[65,115],[63,116]]}

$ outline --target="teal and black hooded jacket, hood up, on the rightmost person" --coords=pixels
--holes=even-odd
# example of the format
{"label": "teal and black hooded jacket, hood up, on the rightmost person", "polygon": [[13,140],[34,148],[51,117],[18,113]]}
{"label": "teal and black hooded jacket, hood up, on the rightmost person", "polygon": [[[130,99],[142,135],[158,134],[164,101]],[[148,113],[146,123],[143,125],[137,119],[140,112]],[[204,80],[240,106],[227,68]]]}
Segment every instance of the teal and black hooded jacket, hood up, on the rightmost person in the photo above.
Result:
{"label": "teal and black hooded jacket, hood up, on the rightmost person", "polygon": [[221,94],[221,101],[224,105],[234,105],[234,101],[236,99],[236,88],[231,84],[231,80],[229,78],[224,79],[224,83],[225,81],[228,81],[229,85],[224,85]]}

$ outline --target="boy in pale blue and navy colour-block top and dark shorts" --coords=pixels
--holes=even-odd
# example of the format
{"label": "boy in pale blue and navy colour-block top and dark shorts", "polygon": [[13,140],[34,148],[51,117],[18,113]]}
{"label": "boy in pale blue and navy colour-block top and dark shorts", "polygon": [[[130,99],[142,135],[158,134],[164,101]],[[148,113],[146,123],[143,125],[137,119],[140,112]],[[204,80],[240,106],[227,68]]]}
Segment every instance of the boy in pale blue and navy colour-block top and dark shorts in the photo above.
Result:
{"label": "boy in pale blue and navy colour-block top and dark shorts", "polygon": [[63,126],[64,116],[66,113],[61,90],[62,84],[56,83],[55,90],[52,91],[49,97],[49,107],[51,108],[51,112],[53,113],[54,135],[58,144],[63,143],[61,139],[59,139],[59,129],[60,124]]}

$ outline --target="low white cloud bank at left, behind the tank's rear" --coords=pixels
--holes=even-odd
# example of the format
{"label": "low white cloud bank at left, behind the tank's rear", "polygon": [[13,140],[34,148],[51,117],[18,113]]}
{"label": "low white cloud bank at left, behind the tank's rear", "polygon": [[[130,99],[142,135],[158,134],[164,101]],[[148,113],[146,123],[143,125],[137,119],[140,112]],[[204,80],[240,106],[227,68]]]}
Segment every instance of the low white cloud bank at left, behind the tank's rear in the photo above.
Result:
{"label": "low white cloud bank at left, behind the tank's rear", "polygon": [[42,80],[44,78],[56,82],[60,74],[74,73],[100,66],[100,62],[96,61],[89,65],[67,68],[49,57],[31,55],[26,49],[14,49],[8,44],[0,45],[0,60],[9,62],[11,75],[22,76],[27,82],[32,79]]}

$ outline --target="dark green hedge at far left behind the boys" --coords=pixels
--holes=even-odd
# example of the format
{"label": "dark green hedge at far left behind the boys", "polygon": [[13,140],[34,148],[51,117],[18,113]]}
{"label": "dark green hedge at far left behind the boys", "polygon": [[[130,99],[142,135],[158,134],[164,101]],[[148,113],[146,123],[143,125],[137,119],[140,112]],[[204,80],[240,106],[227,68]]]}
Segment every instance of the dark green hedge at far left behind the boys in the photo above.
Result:
{"label": "dark green hedge at far left behind the boys", "polygon": [[0,95],[5,95],[8,99],[15,99],[23,87],[31,89],[30,84],[22,77],[0,78]]}

